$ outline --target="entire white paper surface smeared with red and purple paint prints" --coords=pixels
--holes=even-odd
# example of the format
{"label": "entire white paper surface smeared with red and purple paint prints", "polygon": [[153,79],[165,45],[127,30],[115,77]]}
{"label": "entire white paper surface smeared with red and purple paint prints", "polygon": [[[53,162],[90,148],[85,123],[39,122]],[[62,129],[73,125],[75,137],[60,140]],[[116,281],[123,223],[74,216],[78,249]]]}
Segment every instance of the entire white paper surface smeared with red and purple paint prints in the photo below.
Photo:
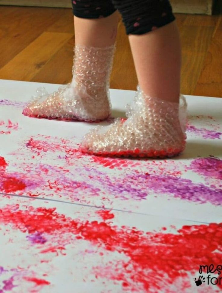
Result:
{"label": "entire white paper surface smeared with red and purple paint prints", "polygon": [[115,159],[79,152],[95,123],[22,115],[41,86],[0,80],[0,293],[220,290],[222,99],[186,96],[180,156]]}

